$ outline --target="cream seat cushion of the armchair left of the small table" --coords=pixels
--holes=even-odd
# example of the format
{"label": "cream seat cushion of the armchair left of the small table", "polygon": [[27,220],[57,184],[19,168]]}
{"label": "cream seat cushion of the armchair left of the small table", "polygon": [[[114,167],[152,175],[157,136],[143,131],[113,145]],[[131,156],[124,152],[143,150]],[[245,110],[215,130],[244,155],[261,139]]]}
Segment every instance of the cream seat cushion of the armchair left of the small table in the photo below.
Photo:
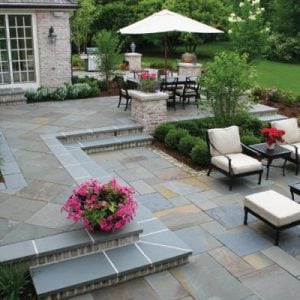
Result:
{"label": "cream seat cushion of the armchair left of the small table", "polygon": [[[243,153],[227,154],[227,156],[231,158],[231,167],[234,175],[259,171],[262,169],[262,163],[260,161]],[[229,163],[225,156],[213,156],[211,158],[211,163],[229,173]]]}

